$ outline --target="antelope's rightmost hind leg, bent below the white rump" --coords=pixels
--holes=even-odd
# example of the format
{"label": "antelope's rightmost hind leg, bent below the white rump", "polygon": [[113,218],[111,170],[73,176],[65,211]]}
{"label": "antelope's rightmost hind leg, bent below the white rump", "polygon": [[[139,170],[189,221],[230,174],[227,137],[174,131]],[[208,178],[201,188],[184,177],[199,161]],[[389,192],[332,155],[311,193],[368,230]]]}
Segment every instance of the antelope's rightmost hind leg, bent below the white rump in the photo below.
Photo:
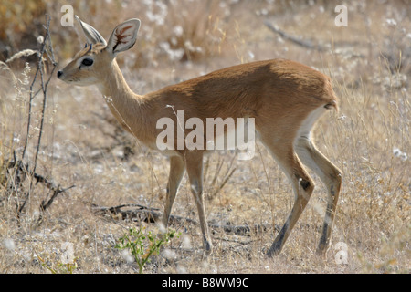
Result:
{"label": "antelope's rightmost hind leg, bent below the white rump", "polygon": [[327,250],[328,245],[330,245],[332,223],[342,184],[342,172],[315,148],[309,136],[301,136],[299,138],[296,143],[296,151],[301,162],[318,174],[328,191],[327,209],[325,211],[324,224],[322,225],[320,244],[317,249],[318,254],[323,254]]}

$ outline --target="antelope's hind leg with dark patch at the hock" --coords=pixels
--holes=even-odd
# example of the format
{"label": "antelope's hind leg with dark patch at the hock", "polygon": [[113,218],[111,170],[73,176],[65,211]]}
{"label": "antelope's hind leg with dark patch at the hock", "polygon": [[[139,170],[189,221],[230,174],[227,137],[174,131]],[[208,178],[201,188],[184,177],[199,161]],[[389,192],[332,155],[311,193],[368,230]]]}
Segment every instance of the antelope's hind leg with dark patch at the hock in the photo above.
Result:
{"label": "antelope's hind leg with dark patch at the hock", "polygon": [[267,255],[272,256],[279,255],[281,252],[281,249],[287,241],[292,228],[299,220],[300,214],[302,214],[302,211],[304,211],[305,206],[310,200],[311,193],[314,189],[314,183],[301,165],[300,160],[294,152],[292,146],[275,147],[274,145],[267,143],[266,145],[269,147],[269,150],[277,162],[279,162],[282,170],[289,177],[295,193],[295,202],[290,215],[267,253]]}

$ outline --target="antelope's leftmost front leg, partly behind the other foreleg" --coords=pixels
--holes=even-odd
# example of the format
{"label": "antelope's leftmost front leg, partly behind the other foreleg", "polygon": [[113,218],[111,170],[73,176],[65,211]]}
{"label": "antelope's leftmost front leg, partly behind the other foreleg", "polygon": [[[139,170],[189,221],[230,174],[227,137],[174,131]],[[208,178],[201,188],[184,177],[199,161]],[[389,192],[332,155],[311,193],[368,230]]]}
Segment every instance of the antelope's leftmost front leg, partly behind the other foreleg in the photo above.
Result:
{"label": "antelope's leftmost front leg, partly behind the other foreleg", "polygon": [[175,195],[180,185],[181,180],[183,179],[185,170],[184,161],[179,156],[170,157],[170,174],[167,184],[167,194],[165,197],[165,206],[163,214],[163,225],[164,228],[167,228],[168,219],[170,218],[172,206],[174,203]]}

